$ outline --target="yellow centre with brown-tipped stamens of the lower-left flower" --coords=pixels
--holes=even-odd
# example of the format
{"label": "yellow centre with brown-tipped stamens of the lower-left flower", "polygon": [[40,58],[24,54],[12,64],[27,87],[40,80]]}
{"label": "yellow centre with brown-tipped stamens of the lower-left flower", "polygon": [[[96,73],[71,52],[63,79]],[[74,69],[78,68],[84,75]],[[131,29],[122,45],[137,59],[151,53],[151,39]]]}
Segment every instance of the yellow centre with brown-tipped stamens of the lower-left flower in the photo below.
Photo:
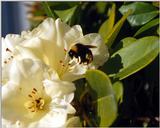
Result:
{"label": "yellow centre with brown-tipped stamens of the lower-left flower", "polygon": [[37,112],[44,108],[44,99],[39,96],[37,89],[33,88],[28,97],[29,101],[25,103],[25,108],[28,109],[30,112]]}

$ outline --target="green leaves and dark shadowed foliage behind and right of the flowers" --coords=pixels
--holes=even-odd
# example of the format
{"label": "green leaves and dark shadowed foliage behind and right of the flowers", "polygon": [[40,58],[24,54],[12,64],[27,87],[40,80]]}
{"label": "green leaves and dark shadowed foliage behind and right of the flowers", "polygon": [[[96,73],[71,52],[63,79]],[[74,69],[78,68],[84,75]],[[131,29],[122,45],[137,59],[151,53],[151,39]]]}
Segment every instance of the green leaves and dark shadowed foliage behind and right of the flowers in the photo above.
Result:
{"label": "green leaves and dark shadowed foliage behind and right of the flowers", "polygon": [[[35,17],[59,17],[70,25],[80,24],[85,34],[99,33],[109,48],[109,60],[99,70],[87,71],[85,80],[75,82],[79,86],[74,105],[80,110],[77,115],[83,126],[158,126],[155,118],[158,109],[153,105],[157,105],[154,98],[159,93],[156,90],[160,45],[157,4],[41,2],[40,5],[41,9],[33,12]],[[36,20],[37,24],[42,20]],[[34,22],[33,17],[32,25]],[[140,113],[144,107],[140,101],[145,97],[152,109]]]}

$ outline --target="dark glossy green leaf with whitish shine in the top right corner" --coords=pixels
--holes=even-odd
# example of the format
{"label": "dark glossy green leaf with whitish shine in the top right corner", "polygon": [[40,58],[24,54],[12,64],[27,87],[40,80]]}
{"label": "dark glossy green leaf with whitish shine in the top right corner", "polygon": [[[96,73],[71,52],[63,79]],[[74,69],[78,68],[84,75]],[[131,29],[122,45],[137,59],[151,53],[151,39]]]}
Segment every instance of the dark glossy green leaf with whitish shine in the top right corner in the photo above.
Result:
{"label": "dark glossy green leaf with whitish shine in the top right corner", "polygon": [[127,18],[127,20],[131,26],[143,25],[156,17],[159,12],[152,4],[144,2],[134,2],[123,5],[120,7],[119,11],[124,15],[125,12],[130,9],[133,13]]}

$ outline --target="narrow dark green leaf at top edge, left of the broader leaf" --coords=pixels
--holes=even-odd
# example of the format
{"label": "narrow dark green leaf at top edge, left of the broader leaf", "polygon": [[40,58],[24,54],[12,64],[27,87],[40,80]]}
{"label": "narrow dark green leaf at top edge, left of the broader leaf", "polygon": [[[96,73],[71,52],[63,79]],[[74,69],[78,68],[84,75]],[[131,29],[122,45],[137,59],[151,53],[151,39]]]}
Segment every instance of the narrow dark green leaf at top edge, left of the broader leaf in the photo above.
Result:
{"label": "narrow dark green leaf at top edge, left of the broader leaf", "polygon": [[54,13],[52,12],[52,10],[50,9],[50,6],[48,5],[47,2],[41,2],[46,14],[48,17],[52,17],[53,19],[56,19],[56,16],[54,15]]}

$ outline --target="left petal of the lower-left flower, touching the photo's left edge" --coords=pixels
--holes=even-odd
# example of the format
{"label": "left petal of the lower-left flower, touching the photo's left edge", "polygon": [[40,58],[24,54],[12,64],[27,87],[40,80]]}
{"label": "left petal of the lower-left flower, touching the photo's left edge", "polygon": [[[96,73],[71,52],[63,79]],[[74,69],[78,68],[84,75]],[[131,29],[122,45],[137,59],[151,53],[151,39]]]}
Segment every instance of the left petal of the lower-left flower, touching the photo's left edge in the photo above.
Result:
{"label": "left petal of the lower-left flower, touching the photo's left edge", "polygon": [[[18,99],[17,99],[18,98]],[[15,124],[17,119],[25,121],[27,110],[24,108],[25,97],[21,90],[13,83],[7,83],[2,88],[2,118]]]}

